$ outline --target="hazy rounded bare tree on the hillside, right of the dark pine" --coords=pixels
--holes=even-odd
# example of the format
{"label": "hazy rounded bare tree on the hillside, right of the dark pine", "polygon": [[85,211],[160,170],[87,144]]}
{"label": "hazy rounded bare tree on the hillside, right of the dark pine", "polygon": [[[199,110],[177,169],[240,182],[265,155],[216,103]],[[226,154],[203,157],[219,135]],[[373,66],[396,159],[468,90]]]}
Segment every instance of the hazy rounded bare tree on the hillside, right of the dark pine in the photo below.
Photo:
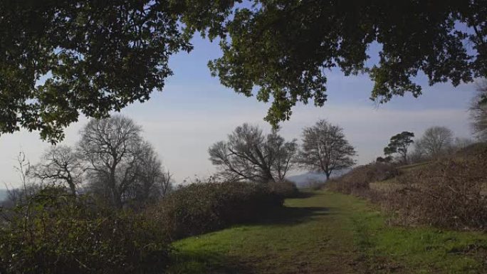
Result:
{"label": "hazy rounded bare tree on the hillside, right of the dark pine", "polygon": [[429,127],[415,143],[417,152],[437,158],[446,154],[454,142],[454,134],[447,127]]}

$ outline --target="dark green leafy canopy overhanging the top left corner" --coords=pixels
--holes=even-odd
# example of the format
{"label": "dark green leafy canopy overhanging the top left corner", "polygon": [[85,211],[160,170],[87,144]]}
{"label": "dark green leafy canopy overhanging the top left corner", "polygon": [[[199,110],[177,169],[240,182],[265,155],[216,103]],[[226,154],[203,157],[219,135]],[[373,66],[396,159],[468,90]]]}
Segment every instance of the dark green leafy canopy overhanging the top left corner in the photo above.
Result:
{"label": "dark green leafy canopy overhanging the top left corner", "polygon": [[80,113],[148,100],[172,75],[169,56],[191,51],[227,2],[0,1],[0,133],[23,127],[57,142]]}

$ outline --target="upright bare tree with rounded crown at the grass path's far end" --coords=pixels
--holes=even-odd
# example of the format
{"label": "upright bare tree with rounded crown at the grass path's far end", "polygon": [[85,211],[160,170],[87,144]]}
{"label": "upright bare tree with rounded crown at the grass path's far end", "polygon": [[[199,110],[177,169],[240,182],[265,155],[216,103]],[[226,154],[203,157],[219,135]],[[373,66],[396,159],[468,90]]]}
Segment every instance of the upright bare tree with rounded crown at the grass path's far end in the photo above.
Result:
{"label": "upright bare tree with rounded crown at the grass path's far end", "polygon": [[303,130],[303,145],[298,157],[300,166],[323,172],[330,179],[332,172],[352,167],[357,154],[345,139],[342,127],[326,120],[316,122]]}

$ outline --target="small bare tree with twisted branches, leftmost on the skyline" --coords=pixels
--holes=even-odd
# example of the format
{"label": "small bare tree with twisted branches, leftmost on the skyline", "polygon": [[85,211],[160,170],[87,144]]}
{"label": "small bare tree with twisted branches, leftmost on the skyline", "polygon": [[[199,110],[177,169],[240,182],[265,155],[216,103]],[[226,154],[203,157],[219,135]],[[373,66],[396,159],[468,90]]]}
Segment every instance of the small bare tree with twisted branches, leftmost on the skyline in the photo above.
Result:
{"label": "small bare tree with twisted branches, leftmost on the skyline", "polygon": [[83,175],[83,163],[70,147],[52,146],[44,152],[41,162],[28,170],[28,175],[52,184],[67,184],[71,194],[76,195]]}

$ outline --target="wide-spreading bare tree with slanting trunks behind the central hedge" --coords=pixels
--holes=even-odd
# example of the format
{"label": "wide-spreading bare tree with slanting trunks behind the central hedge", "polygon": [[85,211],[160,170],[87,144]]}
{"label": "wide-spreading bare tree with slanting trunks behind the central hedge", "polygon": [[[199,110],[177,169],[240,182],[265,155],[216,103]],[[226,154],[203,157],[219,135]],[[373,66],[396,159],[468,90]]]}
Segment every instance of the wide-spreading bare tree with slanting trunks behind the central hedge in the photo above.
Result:
{"label": "wide-spreading bare tree with slanting trunks behind the central hedge", "polygon": [[284,179],[297,149],[295,140],[286,142],[277,132],[263,135],[260,128],[244,124],[228,141],[213,144],[209,155],[226,179],[267,183]]}

